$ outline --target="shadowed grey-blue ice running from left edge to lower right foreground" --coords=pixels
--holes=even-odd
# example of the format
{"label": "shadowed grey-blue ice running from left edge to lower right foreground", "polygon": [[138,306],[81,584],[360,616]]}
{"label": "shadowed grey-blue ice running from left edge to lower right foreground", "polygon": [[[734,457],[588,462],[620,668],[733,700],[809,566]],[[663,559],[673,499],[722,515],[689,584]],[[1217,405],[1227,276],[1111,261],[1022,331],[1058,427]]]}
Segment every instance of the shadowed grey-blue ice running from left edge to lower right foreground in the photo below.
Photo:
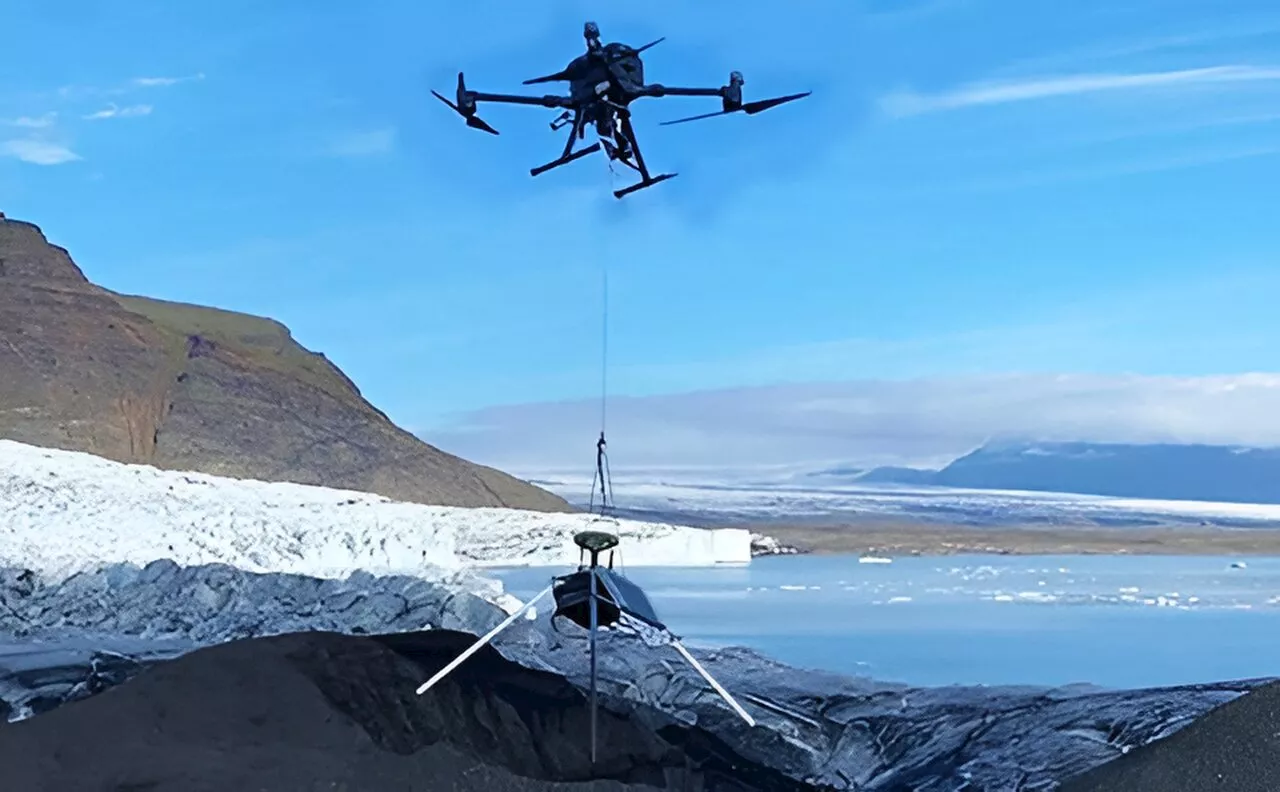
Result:
{"label": "shadowed grey-blue ice running from left edge to lower right foreground", "polygon": [[[317,581],[172,562],[116,566],[58,583],[8,571],[0,592],[0,631],[26,637],[22,645],[0,644],[0,713],[10,720],[232,637],[297,626],[387,635],[421,621],[479,633],[503,617],[479,598],[403,577]],[[517,621],[494,649],[581,688],[589,674],[585,644],[584,631],[553,631],[544,615]],[[744,729],[669,647],[613,631],[600,637],[602,705],[653,728],[663,725],[648,723],[658,713],[700,725],[744,757],[826,789],[1050,792],[1262,683],[920,688],[792,668],[745,649],[690,650],[756,727]]]}

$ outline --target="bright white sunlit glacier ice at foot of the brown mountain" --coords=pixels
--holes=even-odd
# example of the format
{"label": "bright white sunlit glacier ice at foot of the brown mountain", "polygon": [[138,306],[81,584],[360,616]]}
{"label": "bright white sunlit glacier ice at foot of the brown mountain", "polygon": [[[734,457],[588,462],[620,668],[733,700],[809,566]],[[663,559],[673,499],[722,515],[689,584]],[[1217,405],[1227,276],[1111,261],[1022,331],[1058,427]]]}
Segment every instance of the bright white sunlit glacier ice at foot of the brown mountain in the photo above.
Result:
{"label": "bright white sunlit glacier ice at foot of the brown mountain", "polygon": [[0,566],[49,578],[102,564],[223,563],[250,572],[440,580],[577,562],[581,530],[618,534],[628,566],[750,562],[750,534],[590,514],[399,503],[369,493],[122,464],[0,440]]}

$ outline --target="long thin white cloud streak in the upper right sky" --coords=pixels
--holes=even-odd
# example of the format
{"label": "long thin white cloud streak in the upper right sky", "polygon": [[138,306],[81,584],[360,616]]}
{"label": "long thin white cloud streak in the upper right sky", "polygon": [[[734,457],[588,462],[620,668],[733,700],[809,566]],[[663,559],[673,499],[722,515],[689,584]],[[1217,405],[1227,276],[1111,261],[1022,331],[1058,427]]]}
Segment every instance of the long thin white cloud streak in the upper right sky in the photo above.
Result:
{"label": "long thin white cloud streak in the upper right sky", "polygon": [[1260,81],[1280,81],[1280,67],[1224,65],[1172,72],[1076,74],[1070,77],[979,82],[942,93],[897,91],[881,100],[881,109],[887,115],[904,118],[963,107],[1005,105],[1106,91],[1137,91]]}

